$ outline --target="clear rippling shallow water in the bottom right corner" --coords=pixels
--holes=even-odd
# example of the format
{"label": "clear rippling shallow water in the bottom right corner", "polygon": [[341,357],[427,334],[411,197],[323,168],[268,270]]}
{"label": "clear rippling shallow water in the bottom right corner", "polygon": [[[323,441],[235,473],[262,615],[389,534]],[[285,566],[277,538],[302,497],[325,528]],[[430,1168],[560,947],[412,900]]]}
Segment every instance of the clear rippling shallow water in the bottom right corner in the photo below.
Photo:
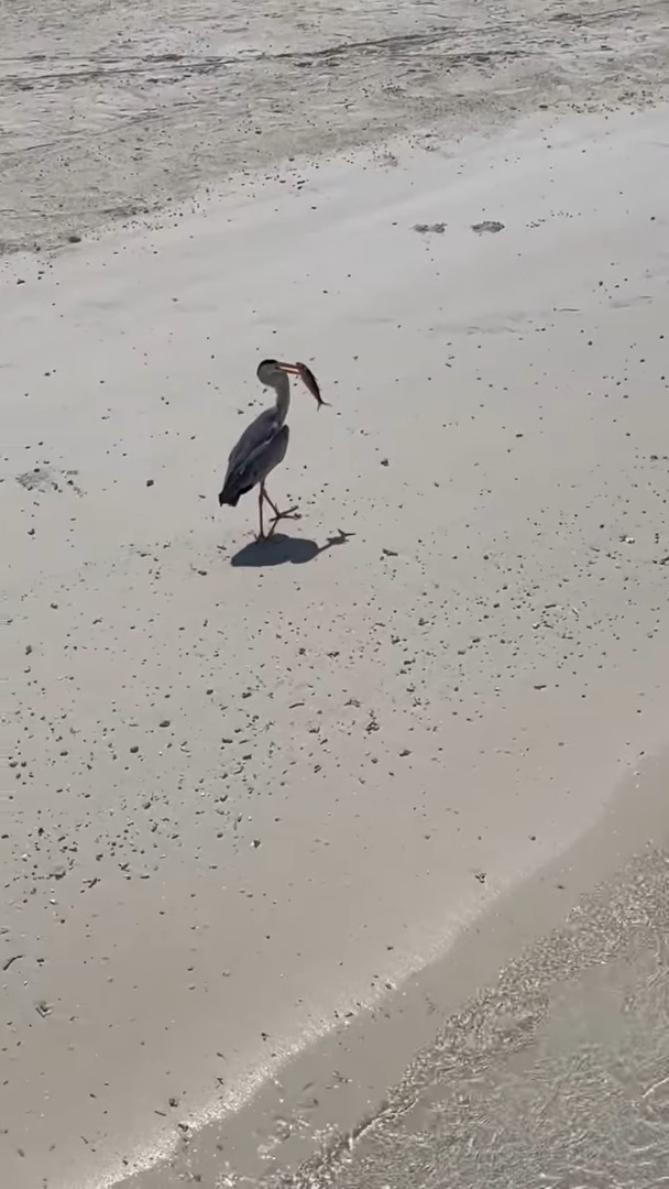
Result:
{"label": "clear rippling shallow water in the bottom right corner", "polygon": [[669,1184],[669,854],[505,970],[299,1189]]}

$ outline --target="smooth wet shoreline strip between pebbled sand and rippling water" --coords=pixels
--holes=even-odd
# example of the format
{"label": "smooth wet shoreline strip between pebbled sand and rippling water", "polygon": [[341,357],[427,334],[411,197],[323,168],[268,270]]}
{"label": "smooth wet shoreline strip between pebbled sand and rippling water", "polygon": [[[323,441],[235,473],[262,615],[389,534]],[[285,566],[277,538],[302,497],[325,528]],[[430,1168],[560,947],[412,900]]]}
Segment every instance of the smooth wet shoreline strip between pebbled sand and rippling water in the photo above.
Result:
{"label": "smooth wet shoreline strip between pebbled sand and rippling water", "polygon": [[170,1157],[109,1187],[171,1189],[184,1174],[203,1183],[223,1176],[231,1187],[309,1185],[316,1170],[332,1176],[337,1158],[387,1113],[389,1087],[399,1093],[436,1028],[450,1028],[472,1004],[485,1002],[511,964],[563,932],[574,910],[586,912],[627,872],[642,872],[644,856],[667,850],[668,774],[669,751],[643,760],[581,838],[499,893],[434,962],[346,1025],[307,1042],[239,1108],[175,1135]]}

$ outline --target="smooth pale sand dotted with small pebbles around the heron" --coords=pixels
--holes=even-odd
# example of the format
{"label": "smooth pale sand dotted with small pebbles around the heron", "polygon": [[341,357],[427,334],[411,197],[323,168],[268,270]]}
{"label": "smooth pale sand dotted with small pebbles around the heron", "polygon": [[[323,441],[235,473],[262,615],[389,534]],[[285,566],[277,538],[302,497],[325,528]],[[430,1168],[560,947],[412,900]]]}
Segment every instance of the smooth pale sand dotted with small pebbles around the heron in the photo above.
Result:
{"label": "smooth pale sand dotted with small pebbles around the heron", "polygon": [[[668,743],[667,130],[433,128],[2,262],[4,1184],[204,1176],[191,1128],[392,1015],[621,785],[499,956],[662,841],[633,773]],[[215,496],[266,354],[333,408],[295,394],[303,518],[257,546]],[[318,1127],[399,1076],[421,1002]],[[235,1126],[203,1183],[259,1175],[258,1126],[280,1159],[276,1112]]]}

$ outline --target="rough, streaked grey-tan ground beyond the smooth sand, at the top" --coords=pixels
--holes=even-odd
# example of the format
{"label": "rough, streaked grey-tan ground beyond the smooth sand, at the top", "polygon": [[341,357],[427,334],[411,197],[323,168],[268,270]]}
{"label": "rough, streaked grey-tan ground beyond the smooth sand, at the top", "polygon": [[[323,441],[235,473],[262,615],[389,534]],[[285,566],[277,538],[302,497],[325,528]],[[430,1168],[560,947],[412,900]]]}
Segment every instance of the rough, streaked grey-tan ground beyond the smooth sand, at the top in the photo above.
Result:
{"label": "rough, streaked grey-tan ground beyond the smooth sand, at the top", "polygon": [[20,0],[0,49],[0,251],[158,212],[233,172],[544,106],[656,101],[662,0]]}

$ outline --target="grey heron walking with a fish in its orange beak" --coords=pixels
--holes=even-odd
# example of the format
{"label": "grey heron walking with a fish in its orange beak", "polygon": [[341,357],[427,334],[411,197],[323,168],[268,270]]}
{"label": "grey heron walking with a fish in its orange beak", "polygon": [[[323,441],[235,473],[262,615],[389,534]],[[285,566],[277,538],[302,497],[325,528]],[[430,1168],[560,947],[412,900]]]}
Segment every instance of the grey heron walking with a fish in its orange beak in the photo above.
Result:
{"label": "grey heron walking with a fish in its orange beak", "polygon": [[321,408],[327,404],[321,396],[321,390],[314,373],[307,364],[284,364],[278,359],[263,359],[257,371],[258,379],[265,388],[272,388],[277,395],[273,409],[265,409],[244,430],[236,446],[233,447],[228,459],[228,470],[223,480],[222,490],[219,495],[219,504],[229,504],[235,508],[240,497],[260,484],[258,496],[258,510],[260,515],[260,531],[258,540],[265,539],[265,527],[263,523],[263,504],[267,503],[273,511],[272,524],[269,536],[272,535],[278,521],[286,517],[297,517],[297,510],[289,508],[280,512],[277,505],[270,499],[265,486],[267,476],[285,458],[289,440],[289,427],[285,423],[290,408],[290,377],[299,376],[304,385],[311,392],[316,404]]}

